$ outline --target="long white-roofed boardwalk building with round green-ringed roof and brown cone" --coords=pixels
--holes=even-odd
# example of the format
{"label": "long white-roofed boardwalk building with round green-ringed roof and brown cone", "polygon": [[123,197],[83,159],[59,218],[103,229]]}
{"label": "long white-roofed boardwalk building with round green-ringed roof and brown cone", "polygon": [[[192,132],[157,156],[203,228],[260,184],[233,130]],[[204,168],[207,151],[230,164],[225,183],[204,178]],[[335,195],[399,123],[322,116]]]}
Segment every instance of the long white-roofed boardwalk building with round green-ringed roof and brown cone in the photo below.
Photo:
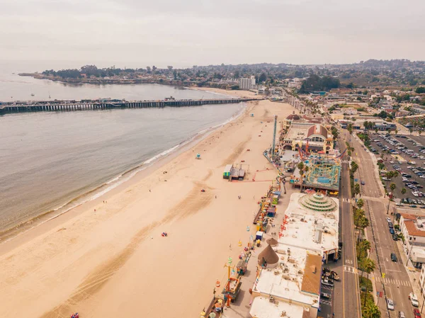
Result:
{"label": "long white-roofed boardwalk building with round green-ringed roof and brown cone", "polygon": [[290,196],[277,246],[259,255],[251,317],[317,317],[322,263],[338,255],[338,222],[338,200],[320,193]]}

